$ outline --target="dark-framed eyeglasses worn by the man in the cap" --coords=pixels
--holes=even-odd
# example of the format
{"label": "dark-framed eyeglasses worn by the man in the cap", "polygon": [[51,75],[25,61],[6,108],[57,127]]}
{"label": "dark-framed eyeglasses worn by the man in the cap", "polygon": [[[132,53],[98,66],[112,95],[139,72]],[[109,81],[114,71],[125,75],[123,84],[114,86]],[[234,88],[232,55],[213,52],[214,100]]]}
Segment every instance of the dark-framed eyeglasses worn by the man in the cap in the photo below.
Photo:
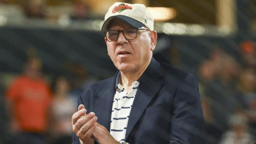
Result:
{"label": "dark-framed eyeglasses worn by the man in the cap", "polygon": [[146,30],[150,31],[149,29],[144,28],[127,28],[125,30],[109,30],[105,33],[105,36],[109,42],[117,41],[119,37],[119,33],[122,32],[123,36],[128,40],[133,40],[138,35],[138,30]]}

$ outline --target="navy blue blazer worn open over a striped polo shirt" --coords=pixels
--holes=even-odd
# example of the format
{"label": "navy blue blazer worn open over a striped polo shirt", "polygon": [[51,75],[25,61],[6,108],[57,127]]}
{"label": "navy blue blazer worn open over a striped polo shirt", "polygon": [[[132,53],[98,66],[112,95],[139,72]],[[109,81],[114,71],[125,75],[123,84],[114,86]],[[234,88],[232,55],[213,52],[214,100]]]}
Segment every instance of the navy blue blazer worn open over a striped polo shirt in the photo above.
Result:
{"label": "navy blue blazer worn open over a striped polo shirt", "polygon": [[[118,72],[117,72],[118,73]],[[116,75],[87,87],[78,98],[110,129]],[[130,144],[202,144],[204,119],[196,78],[154,58],[140,79],[125,141]],[[73,134],[73,144],[80,144]],[[95,144],[97,142],[95,141]]]}

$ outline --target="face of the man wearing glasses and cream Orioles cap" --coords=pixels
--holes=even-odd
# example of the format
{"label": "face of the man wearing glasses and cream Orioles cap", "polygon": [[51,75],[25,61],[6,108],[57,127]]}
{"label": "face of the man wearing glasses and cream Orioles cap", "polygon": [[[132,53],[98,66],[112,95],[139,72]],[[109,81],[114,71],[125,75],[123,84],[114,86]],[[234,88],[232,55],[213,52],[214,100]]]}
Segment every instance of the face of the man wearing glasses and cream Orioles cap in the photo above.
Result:
{"label": "face of the man wearing glasses and cream Orioles cap", "polygon": [[[124,30],[126,28],[132,28],[132,26],[114,18],[108,30]],[[152,51],[155,48],[154,39],[156,40],[156,38],[152,39],[152,32],[156,36],[155,31],[138,30],[138,35],[133,40],[127,40],[122,32],[114,42],[107,41],[105,37],[108,55],[117,69],[123,73],[136,73],[149,64]]]}

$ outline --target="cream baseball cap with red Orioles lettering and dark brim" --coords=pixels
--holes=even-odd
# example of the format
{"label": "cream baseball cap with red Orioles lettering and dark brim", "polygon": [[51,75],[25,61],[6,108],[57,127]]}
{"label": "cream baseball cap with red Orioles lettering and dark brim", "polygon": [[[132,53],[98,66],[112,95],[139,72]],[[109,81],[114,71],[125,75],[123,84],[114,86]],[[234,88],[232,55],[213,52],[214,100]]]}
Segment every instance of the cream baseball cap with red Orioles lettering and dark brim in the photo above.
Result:
{"label": "cream baseball cap with red Orioles lettering and dark brim", "polygon": [[105,22],[101,28],[102,32],[107,31],[113,18],[119,18],[136,28],[146,26],[151,31],[154,30],[154,18],[143,4],[115,2],[105,15]]}

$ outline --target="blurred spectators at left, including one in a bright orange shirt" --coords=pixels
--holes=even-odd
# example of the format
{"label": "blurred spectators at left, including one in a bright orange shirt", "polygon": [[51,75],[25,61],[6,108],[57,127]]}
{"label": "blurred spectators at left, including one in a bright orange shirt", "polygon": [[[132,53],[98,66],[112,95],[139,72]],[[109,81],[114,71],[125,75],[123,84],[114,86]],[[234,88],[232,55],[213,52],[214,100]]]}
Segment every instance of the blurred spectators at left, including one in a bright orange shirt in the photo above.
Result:
{"label": "blurred spectators at left, including one in a bright orange shirt", "polygon": [[72,143],[71,117],[78,96],[94,81],[97,78],[89,76],[84,66],[73,62],[64,64],[63,73],[47,78],[41,60],[29,56],[23,73],[6,87],[2,114],[6,126],[1,128],[0,143]]}

